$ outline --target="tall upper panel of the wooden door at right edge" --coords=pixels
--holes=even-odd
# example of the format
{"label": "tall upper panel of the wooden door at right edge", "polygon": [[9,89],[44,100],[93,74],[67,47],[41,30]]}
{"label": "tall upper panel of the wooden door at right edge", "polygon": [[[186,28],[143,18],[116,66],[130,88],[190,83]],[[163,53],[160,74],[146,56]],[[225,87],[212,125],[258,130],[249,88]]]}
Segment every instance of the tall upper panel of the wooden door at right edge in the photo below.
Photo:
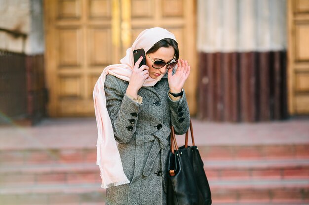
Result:
{"label": "tall upper panel of the wooden door at right edge", "polygon": [[309,24],[295,25],[296,60],[309,61]]}

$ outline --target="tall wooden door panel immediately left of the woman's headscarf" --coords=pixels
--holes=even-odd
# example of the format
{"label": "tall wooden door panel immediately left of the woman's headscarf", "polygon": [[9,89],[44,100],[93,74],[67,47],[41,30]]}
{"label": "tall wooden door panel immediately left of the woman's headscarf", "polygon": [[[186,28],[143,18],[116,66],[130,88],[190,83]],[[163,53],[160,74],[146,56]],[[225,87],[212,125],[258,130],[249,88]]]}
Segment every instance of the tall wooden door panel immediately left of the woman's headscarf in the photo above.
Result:
{"label": "tall wooden door panel immediately left of the woman's headscarf", "polygon": [[91,66],[112,64],[111,29],[93,27],[88,29],[88,59]]}

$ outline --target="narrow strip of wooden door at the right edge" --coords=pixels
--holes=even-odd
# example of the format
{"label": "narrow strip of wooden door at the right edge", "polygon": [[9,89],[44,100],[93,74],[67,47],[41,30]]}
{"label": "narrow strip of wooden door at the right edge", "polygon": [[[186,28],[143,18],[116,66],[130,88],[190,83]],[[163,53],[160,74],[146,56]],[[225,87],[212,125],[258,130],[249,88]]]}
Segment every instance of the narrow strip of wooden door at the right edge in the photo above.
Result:
{"label": "narrow strip of wooden door at the right edge", "polygon": [[309,114],[309,0],[288,0],[290,114]]}

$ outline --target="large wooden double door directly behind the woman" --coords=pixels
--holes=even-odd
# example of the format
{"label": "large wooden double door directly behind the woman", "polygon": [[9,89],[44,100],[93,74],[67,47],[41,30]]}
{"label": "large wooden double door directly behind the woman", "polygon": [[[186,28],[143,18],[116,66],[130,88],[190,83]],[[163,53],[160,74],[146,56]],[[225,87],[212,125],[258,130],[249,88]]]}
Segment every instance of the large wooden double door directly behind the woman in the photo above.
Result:
{"label": "large wooden double door directly behind the woman", "polygon": [[176,35],[180,58],[191,64],[185,89],[194,114],[195,16],[194,0],[45,0],[49,115],[93,116],[92,90],[104,67],[119,63],[137,35],[156,26]]}

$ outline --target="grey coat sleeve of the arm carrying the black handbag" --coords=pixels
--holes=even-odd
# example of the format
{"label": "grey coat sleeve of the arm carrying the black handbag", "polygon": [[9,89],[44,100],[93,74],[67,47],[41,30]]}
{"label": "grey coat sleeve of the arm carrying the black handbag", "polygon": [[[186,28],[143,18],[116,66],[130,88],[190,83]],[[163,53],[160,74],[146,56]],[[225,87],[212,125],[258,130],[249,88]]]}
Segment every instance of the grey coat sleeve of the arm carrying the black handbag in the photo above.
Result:
{"label": "grey coat sleeve of the arm carrying the black handbag", "polygon": [[168,95],[168,104],[171,111],[171,123],[174,127],[175,134],[182,135],[186,133],[190,125],[190,113],[185,91],[182,97],[176,101],[173,101]]}

